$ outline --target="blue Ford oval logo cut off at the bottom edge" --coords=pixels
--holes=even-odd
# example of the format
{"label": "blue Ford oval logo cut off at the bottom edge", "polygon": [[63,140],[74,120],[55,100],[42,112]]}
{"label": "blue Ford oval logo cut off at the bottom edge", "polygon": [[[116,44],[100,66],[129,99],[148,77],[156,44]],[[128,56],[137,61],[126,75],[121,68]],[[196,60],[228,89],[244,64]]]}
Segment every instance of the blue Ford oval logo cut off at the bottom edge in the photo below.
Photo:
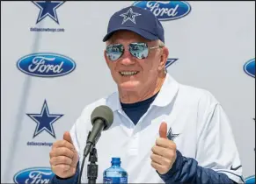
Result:
{"label": "blue Ford oval logo cut off at the bottom edge", "polygon": [[13,177],[13,181],[19,183],[49,183],[55,173],[49,167],[32,167],[19,171]]}

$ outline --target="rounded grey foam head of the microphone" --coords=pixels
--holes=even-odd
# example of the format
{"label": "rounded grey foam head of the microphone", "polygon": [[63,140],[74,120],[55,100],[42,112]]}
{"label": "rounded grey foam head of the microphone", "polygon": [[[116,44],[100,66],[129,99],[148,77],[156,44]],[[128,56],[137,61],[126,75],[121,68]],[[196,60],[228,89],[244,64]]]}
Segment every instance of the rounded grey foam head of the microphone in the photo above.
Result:
{"label": "rounded grey foam head of the microphone", "polygon": [[103,131],[106,131],[113,124],[113,111],[106,105],[100,105],[91,112],[91,124],[95,120],[102,119],[105,123]]}

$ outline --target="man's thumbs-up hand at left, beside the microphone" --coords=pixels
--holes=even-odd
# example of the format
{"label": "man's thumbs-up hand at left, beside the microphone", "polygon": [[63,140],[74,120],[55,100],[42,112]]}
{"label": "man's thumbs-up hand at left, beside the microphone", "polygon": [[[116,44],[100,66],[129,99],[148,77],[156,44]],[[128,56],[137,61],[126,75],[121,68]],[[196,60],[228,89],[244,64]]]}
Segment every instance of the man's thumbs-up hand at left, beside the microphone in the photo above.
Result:
{"label": "man's thumbs-up hand at left, beside the microphone", "polygon": [[62,179],[75,175],[78,154],[69,131],[64,133],[62,140],[58,140],[53,144],[49,154],[51,169],[55,175]]}

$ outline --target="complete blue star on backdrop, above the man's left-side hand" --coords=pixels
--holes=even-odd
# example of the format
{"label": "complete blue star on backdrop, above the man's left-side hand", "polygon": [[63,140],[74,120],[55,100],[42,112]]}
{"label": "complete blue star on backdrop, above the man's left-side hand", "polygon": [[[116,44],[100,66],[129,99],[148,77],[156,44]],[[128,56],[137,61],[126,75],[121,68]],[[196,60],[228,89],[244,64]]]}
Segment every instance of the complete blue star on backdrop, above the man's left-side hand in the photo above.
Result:
{"label": "complete blue star on backdrop, above the man's left-side hand", "polygon": [[55,137],[55,130],[53,124],[59,118],[61,118],[62,114],[50,114],[48,110],[48,103],[45,100],[43,103],[40,114],[26,114],[28,117],[32,118],[33,121],[37,124],[35,131],[33,133],[33,138],[38,136],[41,131],[47,131],[51,136]]}

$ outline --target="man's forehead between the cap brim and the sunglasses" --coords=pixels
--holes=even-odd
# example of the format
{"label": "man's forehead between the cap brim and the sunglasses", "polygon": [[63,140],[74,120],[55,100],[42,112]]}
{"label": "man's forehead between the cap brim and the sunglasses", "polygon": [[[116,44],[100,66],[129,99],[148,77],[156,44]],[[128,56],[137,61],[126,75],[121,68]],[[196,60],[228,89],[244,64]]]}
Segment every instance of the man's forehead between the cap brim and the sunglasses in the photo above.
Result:
{"label": "man's forehead between the cap brim and the sunglasses", "polygon": [[113,32],[113,35],[106,41],[106,45],[113,44],[113,43],[132,43],[132,42],[143,42],[143,43],[150,43],[152,42],[149,39],[144,39],[141,35],[131,32],[131,31],[126,31],[126,30],[121,30],[117,32]]}

